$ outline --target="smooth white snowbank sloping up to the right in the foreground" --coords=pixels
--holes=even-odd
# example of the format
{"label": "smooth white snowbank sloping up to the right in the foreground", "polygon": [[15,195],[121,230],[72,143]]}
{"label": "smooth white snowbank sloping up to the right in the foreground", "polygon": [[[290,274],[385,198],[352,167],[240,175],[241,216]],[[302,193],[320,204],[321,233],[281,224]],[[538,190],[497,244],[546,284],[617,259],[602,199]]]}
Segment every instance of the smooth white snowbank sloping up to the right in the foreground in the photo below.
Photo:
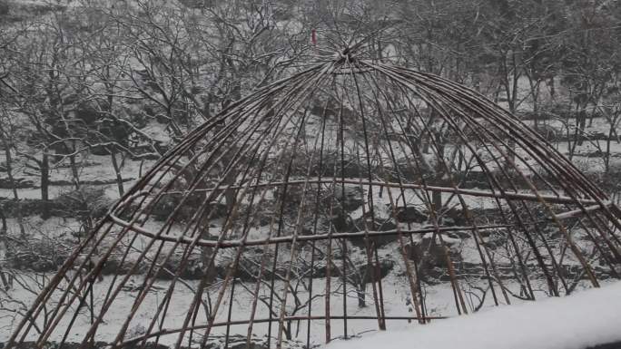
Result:
{"label": "smooth white snowbank sloping up to the right in the foreground", "polygon": [[621,341],[621,282],[475,315],[339,340],[326,349],[584,349]]}

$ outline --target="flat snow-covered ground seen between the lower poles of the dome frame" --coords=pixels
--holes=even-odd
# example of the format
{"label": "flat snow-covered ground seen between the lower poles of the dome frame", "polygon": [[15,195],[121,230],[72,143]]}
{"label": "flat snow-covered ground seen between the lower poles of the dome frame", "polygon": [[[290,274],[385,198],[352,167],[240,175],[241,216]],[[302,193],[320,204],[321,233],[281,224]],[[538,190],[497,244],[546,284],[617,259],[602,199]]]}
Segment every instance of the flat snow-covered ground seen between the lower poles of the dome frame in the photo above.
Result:
{"label": "flat snow-covered ground seen between the lower poles of the dome frame", "polygon": [[[385,297],[385,311],[387,316],[413,316],[411,305],[409,305],[409,286],[407,285],[407,279],[403,276],[398,276],[398,272],[394,272],[391,275],[384,278],[383,281],[383,292]],[[110,286],[110,282],[112,281],[113,276],[105,276],[104,280],[101,282],[97,282],[94,284],[94,300],[95,305],[101,305],[103,302],[104,294]],[[143,281],[142,276],[132,276],[129,285],[139,286]],[[315,279],[314,283],[314,291],[313,295],[322,295],[325,292],[325,278],[323,279]],[[169,307],[168,315],[163,323],[158,322],[157,325],[162,325],[164,329],[173,330],[178,328],[180,324],[182,324],[183,319],[188,313],[188,309],[192,302],[193,291],[197,285],[197,281],[186,281],[184,284],[177,284],[174,288],[175,297],[173,298],[173,303]],[[340,278],[333,277],[331,280],[332,288],[340,289]],[[153,319],[153,312],[157,309],[157,306],[162,302],[163,295],[170,285],[169,281],[159,280],[153,286],[153,291],[149,293],[144,300],[143,305],[140,307],[140,311],[133,319],[129,334],[126,339],[130,339],[133,335],[141,335],[145,328],[148,328],[150,321]],[[253,285],[250,283],[246,284],[247,287],[251,288]],[[278,285],[277,285],[278,287]],[[370,295],[370,286],[368,287],[368,305],[365,307],[358,307],[358,299],[353,292],[353,289],[350,287],[350,295],[346,297],[346,301],[348,303],[348,315],[350,316],[374,316],[375,307],[372,303],[372,296]],[[509,285],[509,287],[511,287]],[[15,287],[12,291],[17,300],[24,302],[25,304],[30,304],[34,301],[34,294],[23,292],[20,289],[21,287]],[[517,291],[517,287],[512,287],[515,291]],[[127,287],[127,291],[123,291],[118,298],[114,301],[113,307],[107,312],[107,315],[104,317],[104,323],[98,329],[96,340],[110,342],[113,340],[114,336],[118,333],[123,321],[125,320],[127,314],[126,309],[130,309],[133,305],[133,301],[137,292],[137,288],[132,290],[131,286]],[[457,315],[455,313],[454,306],[454,297],[451,287],[448,283],[440,284],[436,286],[425,286],[424,292],[428,299],[428,316],[454,316]],[[228,308],[230,294],[224,296],[224,303],[222,304],[222,309]],[[299,296],[302,298],[307,297],[304,293],[301,293]],[[235,297],[233,298],[233,313],[232,313],[232,321],[236,320],[248,320],[249,319],[249,311],[251,305],[251,294],[244,290],[244,288],[240,285],[236,287]],[[477,302],[477,299],[468,299],[468,303]],[[330,303],[330,313],[331,315],[342,315],[342,296],[335,296],[331,298]],[[493,302],[491,301],[491,297],[488,298],[485,307],[493,306]],[[484,308],[485,308],[484,307]],[[313,300],[312,303],[312,315],[324,315],[325,313],[325,303],[324,297],[320,296]],[[295,315],[307,315],[306,308],[302,309],[300,312]],[[215,322],[224,322],[226,320],[227,312],[221,311],[219,315],[216,317]],[[261,305],[261,303],[257,307],[256,319],[265,319],[269,316],[267,312],[267,307],[265,305]],[[12,333],[12,328],[16,325],[16,321],[19,317],[13,317],[11,315],[0,316],[0,343],[4,342],[9,334]],[[56,330],[51,340],[60,340],[62,335],[64,334],[64,330],[68,325],[69,318],[64,318],[63,322],[61,322],[58,326],[59,330]],[[87,311],[83,311],[82,315],[77,317],[76,322],[72,326],[70,335],[68,336],[68,342],[80,342],[82,337],[87,332],[87,329],[90,326],[90,316]],[[199,316],[197,318],[197,324],[204,324],[205,318],[201,312],[199,312]],[[438,320],[441,322],[443,320]],[[409,323],[405,320],[387,320],[387,328],[389,330],[402,328],[404,324]],[[416,323],[416,321],[412,321],[412,323]],[[342,337],[344,334],[344,326],[343,321],[339,319],[333,319],[330,322],[331,334],[334,338]],[[324,340],[324,330],[325,330],[325,321],[324,320],[313,320],[311,322],[311,342],[313,343],[321,343]],[[247,333],[248,325],[232,325],[231,334],[242,334],[245,335]],[[306,321],[294,322],[293,325],[294,333],[296,335],[296,339],[305,340],[306,338],[306,330],[307,323]],[[348,335],[357,335],[363,334],[369,331],[377,330],[378,322],[377,320],[372,319],[349,319],[348,320]],[[219,336],[224,334],[226,331],[226,326],[215,327],[213,330],[214,336]],[[267,334],[268,326],[265,323],[257,323],[253,327],[253,334],[261,337]],[[272,330],[272,335],[275,335],[275,331]],[[33,338],[34,339],[34,338]],[[165,335],[160,339],[160,343],[162,344],[174,344],[177,339],[177,335],[169,334]]]}

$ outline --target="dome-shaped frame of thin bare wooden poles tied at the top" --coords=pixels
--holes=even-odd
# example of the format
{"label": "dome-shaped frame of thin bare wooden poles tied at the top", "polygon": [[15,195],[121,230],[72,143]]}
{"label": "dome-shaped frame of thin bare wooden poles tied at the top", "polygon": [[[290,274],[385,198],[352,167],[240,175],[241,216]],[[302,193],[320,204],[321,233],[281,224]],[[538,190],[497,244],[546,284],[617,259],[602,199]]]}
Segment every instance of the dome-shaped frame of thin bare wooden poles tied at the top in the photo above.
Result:
{"label": "dome-shaped frame of thin bare wooden poles tied at the top", "polygon": [[[76,248],[5,348],[84,349],[102,331],[114,348],[202,348],[215,337],[229,346],[236,334],[248,347],[255,334],[267,346],[289,337],[310,347],[351,335],[352,322],[385,329],[468,314],[477,310],[468,283],[505,305],[618,277],[619,208],[536,131],[458,83],[353,51],[188,134]],[[475,173],[483,179],[468,183]],[[476,273],[451,251],[455,234],[476,247]],[[423,292],[432,248],[452,292],[448,314],[429,309],[434,295]],[[411,313],[387,306],[379,251],[399,261],[391,277]],[[360,270],[370,285],[363,311],[352,305]],[[301,281],[303,292],[292,286]],[[123,320],[110,320],[118,312]],[[136,324],[143,330],[131,334]]]}

